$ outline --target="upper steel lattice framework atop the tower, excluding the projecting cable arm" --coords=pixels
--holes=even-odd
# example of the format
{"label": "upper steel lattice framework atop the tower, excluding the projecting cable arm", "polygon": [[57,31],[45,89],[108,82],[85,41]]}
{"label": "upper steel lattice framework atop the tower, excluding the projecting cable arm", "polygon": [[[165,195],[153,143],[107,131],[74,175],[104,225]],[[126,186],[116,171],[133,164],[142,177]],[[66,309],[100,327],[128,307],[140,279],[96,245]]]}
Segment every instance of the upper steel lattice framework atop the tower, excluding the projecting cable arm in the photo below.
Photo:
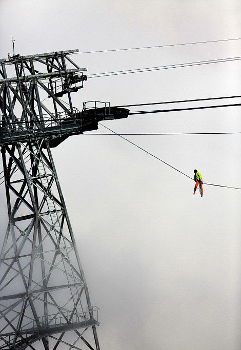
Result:
{"label": "upper steel lattice framework atop the tower, excluding the projecting cable arm", "polygon": [[[14,140],[17,135],[13,132],[18,133],[18,140],[24,135],[29,137],[30,132],[44,134],[51,131],[46,127],[56,127],[64,118],[73,118],[77,109],[72,106],[70,93],[81,89],[87,79],[82,73],[86,68],[78,67],[68,56],[75,51],[78,50],[0,59],[3,140],[9,136]],[[9,75],[16,76],[8,78]],[[63,96],[67,101],[60,98]]]}

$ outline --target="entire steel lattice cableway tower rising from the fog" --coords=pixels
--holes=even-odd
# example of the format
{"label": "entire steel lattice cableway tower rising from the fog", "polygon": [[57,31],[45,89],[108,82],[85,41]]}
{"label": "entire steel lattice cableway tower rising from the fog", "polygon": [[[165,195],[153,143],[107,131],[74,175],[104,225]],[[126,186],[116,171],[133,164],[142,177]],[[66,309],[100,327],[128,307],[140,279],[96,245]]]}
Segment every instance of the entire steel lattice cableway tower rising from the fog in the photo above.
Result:
{"label": "entire steel lattice cableway tower rising from the fog", "polygon": [[129,110],[96,101],[85,102],[82,111],[72,106],[71,92],[87,80],[86,68],[69,57],[77,51],[0,60],[9,217],[0,256],[1,350],[35,349],[38,340],[44,349],[100,349],[98,308],[90,302],[51,148]]}

